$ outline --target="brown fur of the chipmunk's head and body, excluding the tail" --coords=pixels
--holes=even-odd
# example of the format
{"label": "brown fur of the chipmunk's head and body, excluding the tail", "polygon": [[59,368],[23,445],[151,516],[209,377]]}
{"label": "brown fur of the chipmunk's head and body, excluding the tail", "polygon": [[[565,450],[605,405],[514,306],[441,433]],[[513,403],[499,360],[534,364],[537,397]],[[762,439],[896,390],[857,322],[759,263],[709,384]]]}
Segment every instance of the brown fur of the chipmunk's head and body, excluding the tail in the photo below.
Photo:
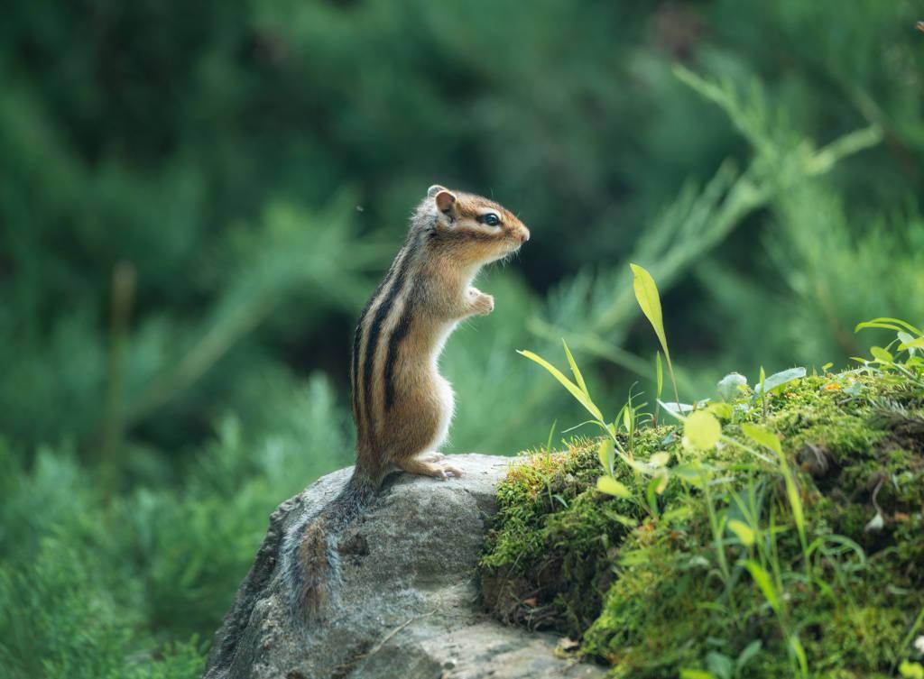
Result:
{"label": "brown fur of the chipmunk's head and body, excluding the tail", "polygon": [[[445,212],[441,205],[448,206]],[[495,213],[501,224],[479,224],[476,219],[487,212]],[[493,309],[493,298],[470,286],[481,266],[516,251],[528,238],[529,230],[516,215],[480,196],[434,187],[420,203],[392,267],[393,273],[403,268],[405,275],[386,279],[357,332],[355,402],[370,406],[368,411],[355,408],[357,466],[372,479],[381,479],[392,465],[441,478],[457,473],[415,459],[435,452],[452,415],[448,383],[439,375],[436,359],[458,321]],[[395,291],[396,285],[401,289]],[[371,330],[376,318],[370,311],[389,302],[380,329]],[[395,333],[399,341],[393,344]],[[367,388],[371,394],[365,394]]]}

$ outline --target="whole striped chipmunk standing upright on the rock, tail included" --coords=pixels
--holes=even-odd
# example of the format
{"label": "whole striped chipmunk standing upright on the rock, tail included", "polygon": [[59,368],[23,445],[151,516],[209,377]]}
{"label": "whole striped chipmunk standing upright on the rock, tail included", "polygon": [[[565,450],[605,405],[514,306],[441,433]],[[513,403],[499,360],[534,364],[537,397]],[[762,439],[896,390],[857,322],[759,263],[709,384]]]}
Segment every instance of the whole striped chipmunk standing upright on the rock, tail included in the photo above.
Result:
{"label": "whole striped chipmunk standing upright on the rock, tail included", "polygon": [[339,535],[388,473],[462,476],[437,450],[455,408],[437,361],[459,321],[494,309],[494,298],[471,285],[481,267],[528,240],[529,229],[501,205],[439,185],[413,212],[404,247],[362,310],[353,340],[353,476],[286,536],[287,589],[303,619],[321,616],[338,577]]}

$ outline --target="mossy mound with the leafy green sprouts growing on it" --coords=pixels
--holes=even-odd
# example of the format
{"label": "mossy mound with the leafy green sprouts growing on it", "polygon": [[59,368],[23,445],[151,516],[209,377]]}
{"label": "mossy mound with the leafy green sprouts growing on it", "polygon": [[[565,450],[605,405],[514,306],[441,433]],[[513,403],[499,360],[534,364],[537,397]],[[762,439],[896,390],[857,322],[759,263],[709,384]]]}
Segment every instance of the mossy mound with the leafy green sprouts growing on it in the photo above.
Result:
{"label": "mossy mound with the leafy green sprouts growing on it", "polygon": [[[633,273],[669,357],[657,287]],[[566,345],[574,382],[521,352],[602,437],[501,484],[487,608],[567,634],[563,651],[615,677],[924,676],[924,333],[868,327],[896,338],[857,370],[732,373],[718,401],[663,403],[658,360],[670,427],[635,394],[608,421]]]}

